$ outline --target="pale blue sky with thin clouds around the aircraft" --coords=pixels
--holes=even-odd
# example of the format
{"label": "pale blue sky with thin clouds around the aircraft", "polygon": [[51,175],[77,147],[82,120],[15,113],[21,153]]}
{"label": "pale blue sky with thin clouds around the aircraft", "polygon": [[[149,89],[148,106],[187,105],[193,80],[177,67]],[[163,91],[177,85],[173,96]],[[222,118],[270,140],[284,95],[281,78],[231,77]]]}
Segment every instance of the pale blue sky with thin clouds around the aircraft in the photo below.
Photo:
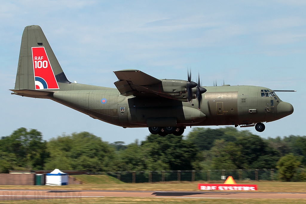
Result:
{"label": "pale blue sky with thin clouds around the aircraft", "polygon": [[[305,1],[0,1],[0,136],[19,127],[50,139],[88,131],[103,140],[143,140],[147,128],[106,124],[47,99],[11,95],[23,29],[40,25],[68,80],[115,87],[113,71],[202,85],[255,85],[279,92],[294,113],[262,137],[306,135]],[[217,128],[217,127],[211,127]],[[242,128],[239,128],[242,129]],[[190,131],[186,129],[185,135]]]}

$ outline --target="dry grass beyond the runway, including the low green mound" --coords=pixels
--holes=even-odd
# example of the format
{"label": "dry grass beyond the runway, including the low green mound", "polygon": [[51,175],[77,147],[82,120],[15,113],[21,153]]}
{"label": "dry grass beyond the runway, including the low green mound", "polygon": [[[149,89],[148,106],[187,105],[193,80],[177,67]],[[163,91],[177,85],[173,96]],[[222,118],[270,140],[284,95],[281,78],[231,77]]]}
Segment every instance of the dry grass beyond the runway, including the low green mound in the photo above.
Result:
{"label": "dry grass beyond the runway, including the low green mound", "polygon": [[[141,191],[199,191],[196,182],[158,182],[158,183],[124,183],[114,177],[106,175],[76,175],[81,185],[67,186],[0,186],[0,189],[58,189],[58,190],[141,190]],[[210,182],[212,183],[212,182]],[[220,182],[216,182],[220,183]],[[240,182],[237,181],[239,184]],[[259,192],[306,192],[306,182],[268,182],[252,181],[243,184],[257,184]]]}

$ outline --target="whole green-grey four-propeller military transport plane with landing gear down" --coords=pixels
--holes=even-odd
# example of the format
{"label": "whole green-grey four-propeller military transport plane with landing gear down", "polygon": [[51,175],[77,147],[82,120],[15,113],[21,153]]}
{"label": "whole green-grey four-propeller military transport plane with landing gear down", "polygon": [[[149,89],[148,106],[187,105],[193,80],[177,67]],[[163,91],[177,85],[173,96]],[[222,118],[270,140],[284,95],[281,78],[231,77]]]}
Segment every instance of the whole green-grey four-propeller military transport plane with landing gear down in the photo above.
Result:
{"label": "whole green-grey four-propeller military transport plane with landing gear down", "polygon": [[[275,91],[258,86],[201,87],[188,80],[156,79],[139,70],[114,72],[117,87],[71,83],[38,25],[24,29],[12,94],[48,98],[92,118],[152,134],[181,135],[186,126],[255,126],[293,113]],[[280,90],[278,90],[280,91]]]}

